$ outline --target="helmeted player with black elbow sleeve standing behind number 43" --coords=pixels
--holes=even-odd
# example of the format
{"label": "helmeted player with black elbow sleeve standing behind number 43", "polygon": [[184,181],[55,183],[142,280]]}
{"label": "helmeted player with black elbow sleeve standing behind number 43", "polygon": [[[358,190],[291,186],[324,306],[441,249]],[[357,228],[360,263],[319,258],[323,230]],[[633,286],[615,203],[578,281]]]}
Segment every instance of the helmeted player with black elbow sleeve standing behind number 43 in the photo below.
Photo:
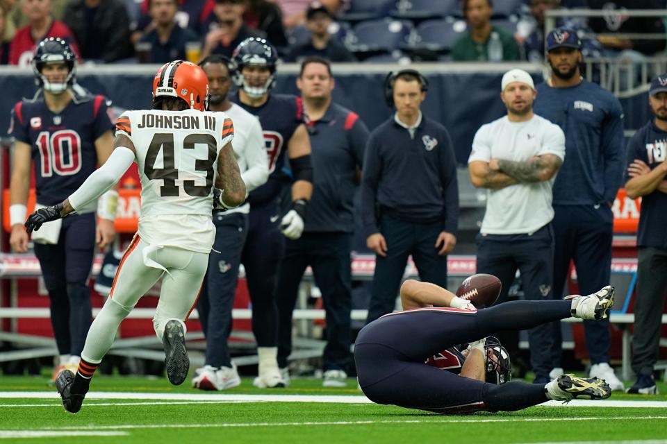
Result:
{"label": "helmeted player with black elbow sleeve standing behind number 43", "polygon": [[[284,387],[286,381],[277,363],[278,313],[274,292],[285,247],[283,235],[298,239],[304,230],[306,207],[313,194],[311,144],[301,101],[296,96],[270,94],[277,62],[272,44],[250,37],[237,46],[233,62],[233,79],[239,87],[234,101],[258,117],[270,173],[267,182],[249,195],[249,229],[241,256],[252,300],[252,331],[259,357],[259,375],[254,384]],[[283,171],[286,157],[292,178]],[[283,216],[279,201],[290,182],[292,205]]]}

